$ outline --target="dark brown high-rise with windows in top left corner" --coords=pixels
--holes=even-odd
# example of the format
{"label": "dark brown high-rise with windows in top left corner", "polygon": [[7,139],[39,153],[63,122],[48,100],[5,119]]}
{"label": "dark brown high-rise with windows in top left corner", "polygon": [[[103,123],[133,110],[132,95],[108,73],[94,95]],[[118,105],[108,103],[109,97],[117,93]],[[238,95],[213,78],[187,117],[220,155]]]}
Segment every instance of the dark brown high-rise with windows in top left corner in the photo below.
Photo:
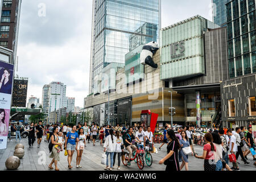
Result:
{"label": "dark brown high-rise with windows in top left corner", "polygon": [[0,23],[0,46],[13,50],[16,60],[19,19],[22,0],[2,0]]}

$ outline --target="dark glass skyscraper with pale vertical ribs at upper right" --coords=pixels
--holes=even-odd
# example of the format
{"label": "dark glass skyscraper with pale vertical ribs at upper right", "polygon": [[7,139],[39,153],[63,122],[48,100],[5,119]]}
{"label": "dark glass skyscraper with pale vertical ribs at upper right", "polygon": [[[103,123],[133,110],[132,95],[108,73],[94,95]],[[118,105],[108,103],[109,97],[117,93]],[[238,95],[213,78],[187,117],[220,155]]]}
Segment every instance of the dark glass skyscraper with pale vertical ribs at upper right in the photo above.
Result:
{"label": "dark glass skyscraper with pale vertical ribs at upper right", "polygon": [[226,4],[229,78],[256,73],[255,0]]}

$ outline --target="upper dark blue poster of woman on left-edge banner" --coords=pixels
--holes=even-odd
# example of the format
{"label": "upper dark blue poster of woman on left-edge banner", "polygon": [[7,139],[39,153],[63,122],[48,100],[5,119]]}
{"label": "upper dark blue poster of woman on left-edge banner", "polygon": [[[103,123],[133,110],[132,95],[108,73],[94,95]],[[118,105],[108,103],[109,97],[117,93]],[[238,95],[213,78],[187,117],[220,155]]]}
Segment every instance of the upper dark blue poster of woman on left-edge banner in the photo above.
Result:
{"label": "upper dark blue poster of woman on left-edge banner", "polygon": [[0,62],[0,93],[11,94],[14,66]]}

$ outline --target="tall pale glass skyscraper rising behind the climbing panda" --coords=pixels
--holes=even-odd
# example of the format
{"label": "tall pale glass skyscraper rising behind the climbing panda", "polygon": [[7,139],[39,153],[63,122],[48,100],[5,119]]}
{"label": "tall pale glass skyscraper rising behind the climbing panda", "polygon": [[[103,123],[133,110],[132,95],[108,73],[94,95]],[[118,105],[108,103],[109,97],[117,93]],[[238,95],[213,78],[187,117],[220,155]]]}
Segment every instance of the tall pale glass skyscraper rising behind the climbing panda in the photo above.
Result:
{"label": "tall pale glass skyscraper rising behind the climbing panda", "polygon": [[125,63],[135,47],[158,41],[160,0],[93,0],[89,94],[100,92],[102,68]]}

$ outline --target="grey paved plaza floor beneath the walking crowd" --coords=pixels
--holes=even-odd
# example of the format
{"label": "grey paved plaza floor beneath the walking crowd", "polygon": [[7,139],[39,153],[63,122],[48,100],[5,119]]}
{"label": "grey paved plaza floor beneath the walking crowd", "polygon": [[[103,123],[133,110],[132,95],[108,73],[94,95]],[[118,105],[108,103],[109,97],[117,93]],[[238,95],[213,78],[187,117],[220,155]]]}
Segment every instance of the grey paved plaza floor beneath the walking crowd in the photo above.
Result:
{"label": "grey paved plaza floor beneath the walking crowd", "polygon": [[[22,139],[22,142],[15,142],[15,138],[12,138],[13,141],[7,142],[7,149],[0,150],[0,171],[7,170],[5,167],[5,161],[9,156],[13,156],[14,148],[17,143],[22,143],[24,145],[25,155],[23,159],[20,159],[20,166],[17,169],[18,171],[47,171],[51,170],[48,168],[48,164],[51,162],[49,158],[49,149],[48,142],[44,142],[42,140],[40,148],[37,147],[37,143],[34,143],[32,148],[28,147],[28,139]],[[159,147],[160,144],[155,144],[155,147]],[[203,154],[203,147],[195,146],[196,152],[198,155]],[[101,164],[101,156],[104,148],[100,146],[100,142],[96,142],[96,146],[93,146],[92,142],[86,143],[85,150],[82,154],[81,166],[82,168],[76,168],[76,151],[73,155],[72,160],[72,169],[68,169],[67,156],[64,155],[64,151],[60,152],[60,161],[58,162],[58,168],[60,171],[102,171],[106,167]],[[164,164],[160,165],[159,160],[162,159],[167,154],[166,144],[162,147],[162,150],[158,150],[158,154],[152,154],[153,163],[151,167],[145,166],[142,171],[164,171],[166,166]],[[244,165],[241,161],[241,158],[238,159],[240,163],[241,171],[255,171],[256,167],[253,165],[253,157],[251,155],[248,156],[248,162],[250,164]],[[196,159],[193,156],[189,156],[189,171],[203,171],[203,163],[204,160]],[[116,164],[114,166],[114,171],[117,171],[117,159],[115,160]],[[180,163],[181,164],[181,163]],[[230,164],[232,167],[232,164]],[[54,164],[53,164],[54,168]],[[131,166],[126,167],[123,166],[121,161],[121,171],[137,171],[140,170],[135,162],[131,162]],[[183,168],[183,171],[185,168]]]}

